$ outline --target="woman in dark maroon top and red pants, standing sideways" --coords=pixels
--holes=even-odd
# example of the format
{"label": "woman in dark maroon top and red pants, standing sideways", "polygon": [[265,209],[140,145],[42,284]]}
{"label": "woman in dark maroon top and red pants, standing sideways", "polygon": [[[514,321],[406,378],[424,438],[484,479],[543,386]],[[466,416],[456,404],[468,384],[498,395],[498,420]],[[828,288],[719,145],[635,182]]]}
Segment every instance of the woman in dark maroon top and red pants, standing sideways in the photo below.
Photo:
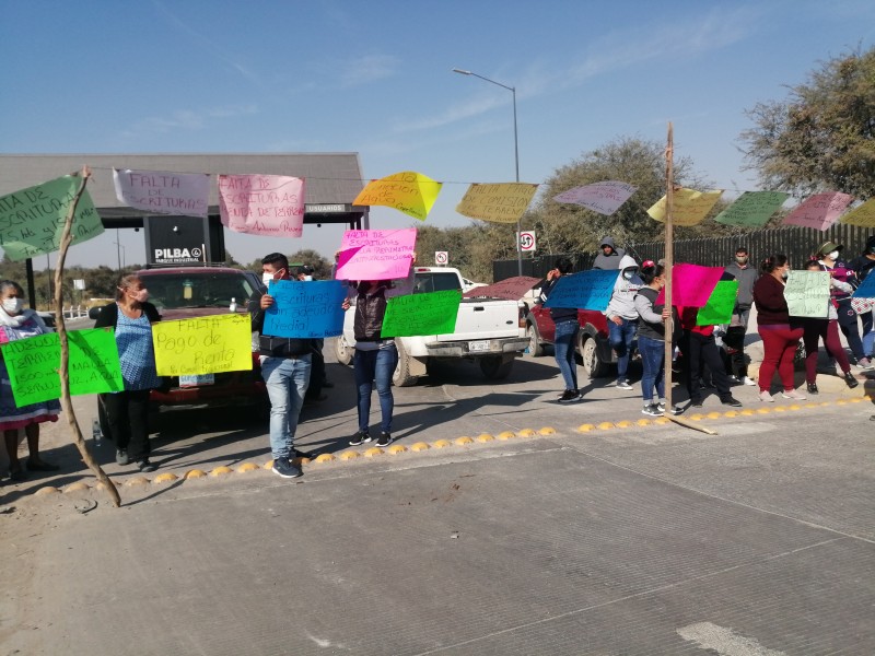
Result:
{"label": "woman in dark maroon top and red pants, standing sideways", "polygon": [[773,403],[772,376],[781,377],[785,399],[804,400],[793,383],[793,358],[800,345],[802,324],[791,318],[784,298],[790,261],[783,254],[771,255],[762,262],[762,274],[754,284],[754,305],[757,308],[757,331],[762,339],[763,356],[759,367],[759,399]]}

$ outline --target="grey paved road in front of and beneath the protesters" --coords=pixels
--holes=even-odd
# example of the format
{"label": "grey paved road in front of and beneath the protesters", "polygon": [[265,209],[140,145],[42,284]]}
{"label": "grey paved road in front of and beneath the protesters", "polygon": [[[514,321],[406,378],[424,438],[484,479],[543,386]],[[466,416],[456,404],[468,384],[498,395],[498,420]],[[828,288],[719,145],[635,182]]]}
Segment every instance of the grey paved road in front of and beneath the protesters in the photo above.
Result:
{"label": "grey paved road in front of and beneath the protesters", "polygon": [[[2,572],[31,576],[4,590],[0,654],[875,652],[863,386],[769,407],[739,387],[768,412],[726,417],[711,397],[687,414],[707,435],[638,425],[637,394],[607,382],[559,406],[549,358],[495,385],[459,365],[396,390],[398,444],[431,448],[369,458],[346,446],[351,372],[329,375],[301,442],[337,459],[296,481],[125,485],[120,509],[95,490],[32,495],[83,478],[59,446],[60,476],[3,488]],[[238,411],[163,418],[154,459],[178,475],[262,464],[265,430]]]}

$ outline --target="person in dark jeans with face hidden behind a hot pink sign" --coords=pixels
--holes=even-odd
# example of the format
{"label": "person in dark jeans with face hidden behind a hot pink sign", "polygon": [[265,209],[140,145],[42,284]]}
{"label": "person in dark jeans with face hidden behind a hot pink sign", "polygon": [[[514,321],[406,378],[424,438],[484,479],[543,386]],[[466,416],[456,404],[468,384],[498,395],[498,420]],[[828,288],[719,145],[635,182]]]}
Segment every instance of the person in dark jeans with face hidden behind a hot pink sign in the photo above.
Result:
{"label": "person in dark jeans with face hidden behind a hot pink sign", "polygon": [[359,410],[359,430],[349,441],[350,446],[371,442],[371,395],[376,385],[380,399],[380,437],[377,446],[392,443],[392,420],[395,410],[395,397],[392,394],[392,376],[398,365],[398,349],[392,337],[383,337],[383,319],[386,316],[387,301],[395,296],[405,296],[413,292],[416,271],[411,261],[406,279],[365,280],[358,283],[350,281],[343,309],[351,307],[355,300],[355,316],[352,329],[355,336],[355,353],[352,367],[355,374],[355,397]]}

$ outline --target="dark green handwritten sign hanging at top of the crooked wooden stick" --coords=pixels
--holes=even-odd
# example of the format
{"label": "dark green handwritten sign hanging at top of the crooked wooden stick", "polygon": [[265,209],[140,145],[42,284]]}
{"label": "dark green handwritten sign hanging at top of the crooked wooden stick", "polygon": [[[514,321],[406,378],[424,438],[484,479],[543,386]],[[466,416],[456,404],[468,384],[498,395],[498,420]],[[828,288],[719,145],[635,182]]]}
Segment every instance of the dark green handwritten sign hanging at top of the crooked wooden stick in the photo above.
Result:
{"label": "dark green handwritten sign hanging at top of the crooked wooden stick", "polygon": [[[0,197],[0,246],[13,261],[60,248],[63,223],[80,178],[65,176]],[[88,190],[73,215],[73,244],[96,237],[103,223]]]}

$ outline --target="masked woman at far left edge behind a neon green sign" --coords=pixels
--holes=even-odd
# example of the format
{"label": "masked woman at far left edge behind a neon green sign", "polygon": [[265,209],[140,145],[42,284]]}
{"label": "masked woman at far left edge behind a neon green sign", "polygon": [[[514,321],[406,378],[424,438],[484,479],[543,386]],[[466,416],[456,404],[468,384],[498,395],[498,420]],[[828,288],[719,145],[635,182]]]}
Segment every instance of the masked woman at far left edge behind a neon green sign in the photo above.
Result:
{"label": "masked woman at far left edge behind a neon green sign", "polygon": [[[45,335],[50,330],[33,309],[22,309],[24,290],[18,282],[0,281],[0,344],[19,339],[27,339]],[[27,471],[57,471],[57,465],[50,465],[39,457],[39,424],[46,421],[58,421],[61,406],[58,399],[15,405],[12,395],[12,383],[9,379],[5,362],[0,359],[0,430],[7,443],[9,456],[9,476],[13,481],[25,479],[24,470],[19,461],[19,429],[24,429],[27,436]]]}

